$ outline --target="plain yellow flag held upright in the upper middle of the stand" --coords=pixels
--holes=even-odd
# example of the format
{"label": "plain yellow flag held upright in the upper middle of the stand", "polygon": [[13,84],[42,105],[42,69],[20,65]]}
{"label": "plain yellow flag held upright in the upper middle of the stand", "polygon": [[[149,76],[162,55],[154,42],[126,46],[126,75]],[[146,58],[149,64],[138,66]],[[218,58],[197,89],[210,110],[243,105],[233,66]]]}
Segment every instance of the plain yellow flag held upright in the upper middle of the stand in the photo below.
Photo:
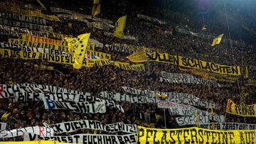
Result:
{"label": "plain yellow flag held upright in the upper middle of the stand", "polygon": [[117,38],[124,38],[124,26],[127,16],[122,16],[118,18],[117,22],[115,23],[114,28],[114,36]]}

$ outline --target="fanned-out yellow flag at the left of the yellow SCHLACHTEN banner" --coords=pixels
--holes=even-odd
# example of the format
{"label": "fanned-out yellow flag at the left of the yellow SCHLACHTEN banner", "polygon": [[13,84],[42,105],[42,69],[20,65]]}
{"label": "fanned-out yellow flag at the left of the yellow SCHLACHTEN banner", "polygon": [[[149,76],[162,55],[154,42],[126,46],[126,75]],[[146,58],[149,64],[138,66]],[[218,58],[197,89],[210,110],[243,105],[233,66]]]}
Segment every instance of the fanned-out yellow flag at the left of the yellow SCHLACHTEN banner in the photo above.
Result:
{"label": "fanned-out yellow flag at the left of the yellow SCHLACHTEN banner", "polygon": [[134,52],[132,55],[129,55],[127,59],[131,62],[146,62],[147,56],[145,48],[137,50],[137,52]]}

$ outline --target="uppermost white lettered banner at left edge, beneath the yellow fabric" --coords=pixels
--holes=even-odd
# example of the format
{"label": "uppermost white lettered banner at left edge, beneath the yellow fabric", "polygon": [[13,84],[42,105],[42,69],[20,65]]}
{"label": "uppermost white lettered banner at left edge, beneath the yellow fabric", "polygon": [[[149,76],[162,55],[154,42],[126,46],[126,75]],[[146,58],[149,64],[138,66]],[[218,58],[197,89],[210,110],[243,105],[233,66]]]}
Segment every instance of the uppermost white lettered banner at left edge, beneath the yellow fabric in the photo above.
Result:
{"label": "uppermost white lettered banner at left edge, beneath the yellow fabric", "polygon": [[26,21],[28,23],[36,23],[39,25],[46,25],[46,19],[44,18],[24,16],[16,13],[0,13],[0,18],[11,19],[16,21]]}

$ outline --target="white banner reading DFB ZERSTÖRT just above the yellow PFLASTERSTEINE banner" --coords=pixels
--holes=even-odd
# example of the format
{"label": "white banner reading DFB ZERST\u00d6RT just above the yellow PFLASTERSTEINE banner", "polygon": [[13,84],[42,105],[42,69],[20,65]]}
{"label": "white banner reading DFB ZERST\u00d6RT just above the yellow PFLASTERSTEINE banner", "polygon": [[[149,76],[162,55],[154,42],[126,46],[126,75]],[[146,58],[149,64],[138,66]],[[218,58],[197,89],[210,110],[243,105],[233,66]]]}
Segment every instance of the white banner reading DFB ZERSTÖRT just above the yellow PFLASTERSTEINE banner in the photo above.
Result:
{"label": "white banner reading DFB ZERST\u00d6RT just above the yellow PFLASTERSTEINE banner", "polygon": [[[250,123],[214,123],[215,130],[256,130],[256,124]],[[213,129],[212,123],[203,123],[199,128]]]}

